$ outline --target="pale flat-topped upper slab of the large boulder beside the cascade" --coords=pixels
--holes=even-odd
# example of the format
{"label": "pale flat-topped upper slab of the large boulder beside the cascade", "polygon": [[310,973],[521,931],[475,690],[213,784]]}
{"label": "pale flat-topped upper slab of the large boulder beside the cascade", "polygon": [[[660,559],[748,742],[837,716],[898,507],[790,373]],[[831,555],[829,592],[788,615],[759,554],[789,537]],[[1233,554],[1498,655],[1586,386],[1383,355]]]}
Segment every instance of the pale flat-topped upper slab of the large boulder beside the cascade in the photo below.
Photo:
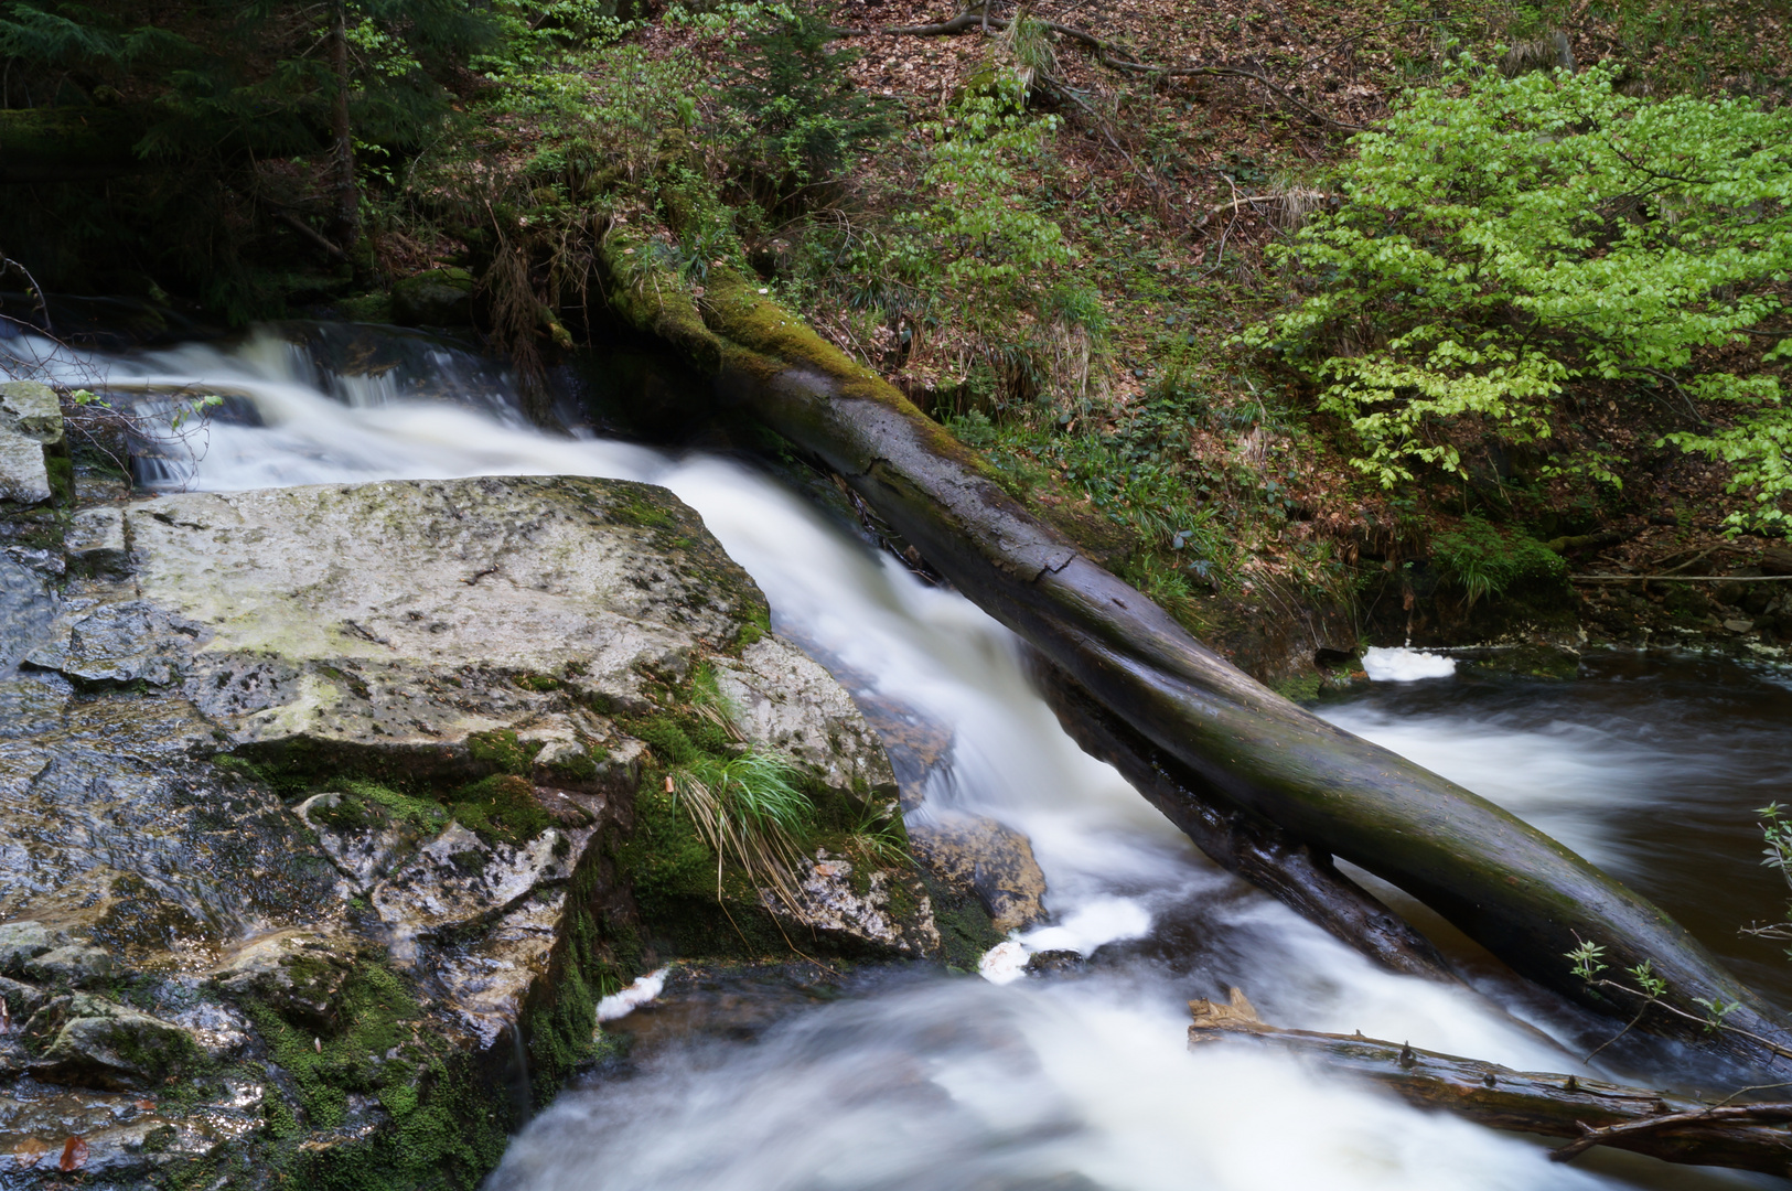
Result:
{"label": "pale flat-topped upper slab of the large boulder beside the cascade", "polygon": [[573,698],[645,709],[643,673],[686,673],[762,600],[642,484],[190,493],[125,525],[143,604],[192,641],[188,697],[238,745],[435,752]]}

